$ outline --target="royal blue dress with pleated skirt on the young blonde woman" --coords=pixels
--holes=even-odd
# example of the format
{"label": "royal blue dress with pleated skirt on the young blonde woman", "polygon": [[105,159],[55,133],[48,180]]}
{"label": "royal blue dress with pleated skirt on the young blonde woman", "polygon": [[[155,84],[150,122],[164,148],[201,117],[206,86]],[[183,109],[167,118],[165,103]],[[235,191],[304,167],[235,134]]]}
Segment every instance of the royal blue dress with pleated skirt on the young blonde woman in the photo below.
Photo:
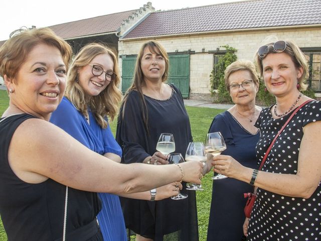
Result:
{"label": "royal blue dress with pleated skirt on the young blonde woman", "polygon": [[[57,110],[52,113],[50,122],[96,153],[101,155],[114,153],[121,156],[121,148],[115,141],[109,125],[106,129],[102,129],[90,109],[88,109],[88,114],[90,125],[75,106],[64,97]],[[104,240],[127,240],[119,197],[110,193],[98,193],[98,195],[103,205],[97,218]]]}

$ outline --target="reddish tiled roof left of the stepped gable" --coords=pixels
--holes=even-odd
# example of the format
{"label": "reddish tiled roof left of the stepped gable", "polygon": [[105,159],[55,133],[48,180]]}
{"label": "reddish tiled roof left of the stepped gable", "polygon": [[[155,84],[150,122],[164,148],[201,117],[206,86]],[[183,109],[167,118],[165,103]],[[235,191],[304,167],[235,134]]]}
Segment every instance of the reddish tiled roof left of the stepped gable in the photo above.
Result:
{"label": "reddish tiled roof left of the stepped gable", "polygon": [[123,20],[135,13],[136,10],[103,15],[90,19],[49,26],[63,39],[116,32]]}

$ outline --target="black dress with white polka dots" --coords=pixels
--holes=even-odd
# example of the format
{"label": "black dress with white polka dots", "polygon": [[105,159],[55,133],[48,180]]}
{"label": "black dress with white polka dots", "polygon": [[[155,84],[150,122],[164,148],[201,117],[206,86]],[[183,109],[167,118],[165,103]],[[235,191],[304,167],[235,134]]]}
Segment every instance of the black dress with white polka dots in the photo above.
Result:
{"label": "black dress with white polka dots", "polygon": [[[257,125],[261,131],[256,146],[258,163],[261,163],[270,143],[293,111],[274,119],[270,108],[262,110]],[[321,102],[311,101],[293,116],[279,135],[262,171],[295,175],[303,127],[316,121],[321,121]],[[308,199],[279,195],[258,188],[247,240],[261,240],[262,237],[265,240],[321,240],[320,196],[320,185]]]}

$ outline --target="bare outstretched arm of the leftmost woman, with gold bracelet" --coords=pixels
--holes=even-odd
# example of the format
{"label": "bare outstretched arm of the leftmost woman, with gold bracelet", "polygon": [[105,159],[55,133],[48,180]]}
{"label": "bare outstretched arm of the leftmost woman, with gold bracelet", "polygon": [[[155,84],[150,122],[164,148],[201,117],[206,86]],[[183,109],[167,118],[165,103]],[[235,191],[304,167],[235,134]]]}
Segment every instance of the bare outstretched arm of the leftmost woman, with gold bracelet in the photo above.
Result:
{"label": "bare outstretched arm of the leftmost woman, with gold bracelet", "polygon": [[[51,178],[93,192],[146,191],[180,181],[182,177],[177,165],[123,165],[106,161],[60,128],[36,118],[27,119],[17,128],[8,158],[15,174],[25,182],[40,183]],[[200,183],[202,165],[189,163],[180,164],[184,180]]]}

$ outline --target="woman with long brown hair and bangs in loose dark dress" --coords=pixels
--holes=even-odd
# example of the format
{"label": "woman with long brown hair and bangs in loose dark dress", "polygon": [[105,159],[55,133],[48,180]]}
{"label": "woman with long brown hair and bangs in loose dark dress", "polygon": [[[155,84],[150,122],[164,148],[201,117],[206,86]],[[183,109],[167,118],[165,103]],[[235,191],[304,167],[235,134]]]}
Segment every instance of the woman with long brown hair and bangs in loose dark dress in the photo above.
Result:
{"label": "woman with long brown hair and bangs in loose dark dress", "polygon": [[[192,141],[181,92],[165,83],[168,69],[164,47],[155,41],[141,47],[117,125],[124,163],[168,164],[167,156],[156,152],[161,133],[174,135],[175,152],[183,156]],[[185,185],[181,192],[188,193],[188,198],[156,202],[121,198],[126,227],[137,234],[136,240],[198,240],[195,192],[187,191]]]}

